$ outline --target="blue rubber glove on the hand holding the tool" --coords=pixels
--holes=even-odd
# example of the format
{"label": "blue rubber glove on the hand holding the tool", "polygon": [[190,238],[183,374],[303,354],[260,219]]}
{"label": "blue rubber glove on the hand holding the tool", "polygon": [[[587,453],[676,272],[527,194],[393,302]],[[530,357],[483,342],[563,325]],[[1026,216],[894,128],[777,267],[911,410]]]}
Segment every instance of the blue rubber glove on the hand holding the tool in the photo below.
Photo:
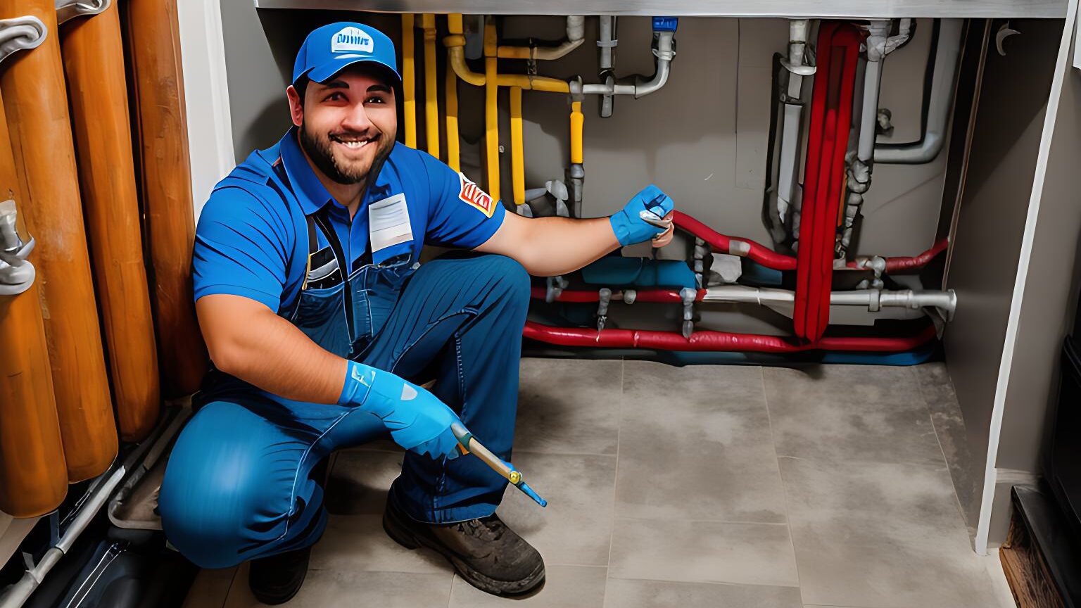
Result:
{"label": "blue rubber glove on the hand holding the tool", "polygon": [[395,442],[406,450],[433,459],[461,454],[451,433],[451,424],[462,424],[458,415],[426,388],[389,371],[350,360],[338,405],[379,417]]}

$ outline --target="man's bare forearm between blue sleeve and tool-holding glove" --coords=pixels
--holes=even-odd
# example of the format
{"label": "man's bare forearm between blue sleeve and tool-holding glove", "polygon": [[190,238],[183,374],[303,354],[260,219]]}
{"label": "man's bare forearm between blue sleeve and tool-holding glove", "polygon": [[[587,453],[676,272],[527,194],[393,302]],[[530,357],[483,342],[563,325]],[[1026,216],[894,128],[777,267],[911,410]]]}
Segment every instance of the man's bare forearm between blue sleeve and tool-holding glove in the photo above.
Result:
{"label": "man's bare forearm between blue sleeve and tool-holding glove", "polygon": [[196,310],[211,359],[222,371],[286,399],[337,402],[346,360],[293,323],[240,295],[205,295]]}

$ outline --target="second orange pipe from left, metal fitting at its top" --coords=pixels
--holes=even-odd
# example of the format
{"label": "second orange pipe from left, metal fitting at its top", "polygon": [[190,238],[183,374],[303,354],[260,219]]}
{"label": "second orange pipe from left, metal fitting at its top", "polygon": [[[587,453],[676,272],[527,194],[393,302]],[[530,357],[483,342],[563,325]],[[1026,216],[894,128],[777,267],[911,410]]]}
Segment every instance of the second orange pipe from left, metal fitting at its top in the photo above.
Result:
{"label": "second orange pipe from left, metal fitting at its top", "polygon": [[[0,89],[23,210],[44,305],[53,391],[68,479],[93,477],[117,454],[117,431],[98,333],[79,177],[52,0],[0,0],[0,16],[32,14],[52,32],[8,60]],[[57,454],[53,454],[56,458]]]}

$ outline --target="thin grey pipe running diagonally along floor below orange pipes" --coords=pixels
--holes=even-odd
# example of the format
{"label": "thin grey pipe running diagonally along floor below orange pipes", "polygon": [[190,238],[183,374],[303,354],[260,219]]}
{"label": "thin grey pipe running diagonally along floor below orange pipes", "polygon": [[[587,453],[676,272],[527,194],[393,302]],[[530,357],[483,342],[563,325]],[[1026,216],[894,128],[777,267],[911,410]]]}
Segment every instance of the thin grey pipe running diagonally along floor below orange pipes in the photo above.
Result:
{"label": "thin grey pipe running diagonally along floor below orange pipes", "polygon": [[[94,519],[97,512],[109,500],[112,491],[128,476],[128,473],[144,462],[148,451],[154,454],[160,454],[169,445],[169,441],[172,440],[173,436],[179,431],[181,426],[183,426],[181,422],[190,415],[190,413],[191,410],[188,408],[175,408],[171,415],[169,413],[163,415],[155,431],[156,435],[151,435],[151,437],[139,444],[124,459],[122,464],[114,464],[109,471],[98,478],[98,481],[94,484],[82,504],[78,507],[75,519],[64,530],[64,533],[61,534],[55,544],[45,552],[37,565],[28,568],[23,573],[23,578],[18,582],[9,586],[0,595],[0,608],[19,608],[29,599],[35,590],[41,585],[45,574],[71,550],[71,545],[75,544],[75,541],[86,529],[86,526]],[[27,564],[27,566],[30,565]]]}

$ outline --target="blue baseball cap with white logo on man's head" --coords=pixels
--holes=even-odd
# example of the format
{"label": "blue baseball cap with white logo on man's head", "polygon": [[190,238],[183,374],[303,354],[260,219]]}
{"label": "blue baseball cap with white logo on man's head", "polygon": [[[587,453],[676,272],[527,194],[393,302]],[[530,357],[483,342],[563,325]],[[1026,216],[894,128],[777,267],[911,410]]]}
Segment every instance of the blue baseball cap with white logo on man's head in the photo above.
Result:
{"label": "blue baseball cap with white logo on man's head", "polygon": [[323,82],[348,66],[371,63],[383,66],[393,75],[390,84],[401,85],[395,43],[387,35],[359,23],[338,22],[313,29],[296,53],[293,64],[293,84],[307,76]]}

